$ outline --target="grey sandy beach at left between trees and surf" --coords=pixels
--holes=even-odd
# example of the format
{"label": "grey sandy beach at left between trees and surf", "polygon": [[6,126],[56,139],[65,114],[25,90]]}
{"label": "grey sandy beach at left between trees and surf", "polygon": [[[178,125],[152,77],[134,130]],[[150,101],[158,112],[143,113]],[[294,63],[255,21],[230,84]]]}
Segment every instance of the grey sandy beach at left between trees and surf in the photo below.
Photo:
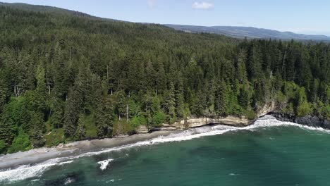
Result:
{"label": "grey sandy beach at left between trees and surf", "polygon": [[155,137],[169,135],[181,130],[174,131],[155,131],[147,134],[130,135],[127,137],[114,137],[102,140],[85,140],[72,142],[68,144],[60,144],[57,147],[31,149],[29,151],[16,152],[0,156],[0,170],[7,168],[15,168],[30,163],[41,163],[49,159],[78,156],[90,151],[101,151],[102,149],[120,147],[126,144],[133,144],[150,140]]}

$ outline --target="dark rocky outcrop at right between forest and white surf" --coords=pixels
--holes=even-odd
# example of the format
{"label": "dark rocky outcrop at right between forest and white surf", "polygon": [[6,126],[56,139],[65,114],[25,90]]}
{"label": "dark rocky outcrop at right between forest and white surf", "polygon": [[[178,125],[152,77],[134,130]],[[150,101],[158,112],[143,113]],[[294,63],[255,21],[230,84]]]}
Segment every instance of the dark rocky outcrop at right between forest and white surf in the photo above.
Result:
{"label": "dark rocky outcrop at right between forest and white surf", "polygon": [[330,120],[326,120],[325,118],[317,116],[295,117],[291,114],[281,112],[270,112],[269,114],[281,121],[288,121],[311,127],[330,129]]}

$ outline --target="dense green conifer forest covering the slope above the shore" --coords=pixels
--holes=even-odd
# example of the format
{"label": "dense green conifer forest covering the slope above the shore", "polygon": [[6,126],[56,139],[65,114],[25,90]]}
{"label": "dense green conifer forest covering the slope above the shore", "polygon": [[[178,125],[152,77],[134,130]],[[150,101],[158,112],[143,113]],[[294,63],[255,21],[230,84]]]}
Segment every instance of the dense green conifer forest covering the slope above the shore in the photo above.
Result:
{"label": "dense green conifer forest covering the slope above the shore", "polygon": [[330,45],[191,34],[0,6],[0,153],[275,101],[330,118]]}

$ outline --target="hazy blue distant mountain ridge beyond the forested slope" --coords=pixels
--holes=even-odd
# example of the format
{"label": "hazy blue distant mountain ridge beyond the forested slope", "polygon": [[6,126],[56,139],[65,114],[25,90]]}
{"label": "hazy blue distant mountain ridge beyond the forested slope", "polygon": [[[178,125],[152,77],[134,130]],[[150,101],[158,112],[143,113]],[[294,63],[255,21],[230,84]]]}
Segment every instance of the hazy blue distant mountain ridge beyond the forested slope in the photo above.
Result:
{"label": "hazy blue distant mountain ridge beyond the forested slope", "polygon": [[238,38],[259,38],[259,39],[297,39],[297,40],[319,40],[330,41],[330,37],[325,35],[302,35],[293,32],[279,32],[277,30],[268,30],[256,27],[231,27],[231,26],[214,26],[203,27],[193,25],[166,25],[176,30],[185,32],[207,32],[219,35],[227,35]]}

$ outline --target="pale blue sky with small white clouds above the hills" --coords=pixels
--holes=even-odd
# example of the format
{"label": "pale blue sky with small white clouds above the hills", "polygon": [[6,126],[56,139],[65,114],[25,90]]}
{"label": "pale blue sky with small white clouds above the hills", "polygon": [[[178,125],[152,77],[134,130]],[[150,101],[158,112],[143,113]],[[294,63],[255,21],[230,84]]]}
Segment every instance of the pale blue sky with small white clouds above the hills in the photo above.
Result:
{"label": "pale blue sky with small white clouds above the hills", "polygon": [[330,36],[328,0],[0,0],[142,23],[252,26]]}

